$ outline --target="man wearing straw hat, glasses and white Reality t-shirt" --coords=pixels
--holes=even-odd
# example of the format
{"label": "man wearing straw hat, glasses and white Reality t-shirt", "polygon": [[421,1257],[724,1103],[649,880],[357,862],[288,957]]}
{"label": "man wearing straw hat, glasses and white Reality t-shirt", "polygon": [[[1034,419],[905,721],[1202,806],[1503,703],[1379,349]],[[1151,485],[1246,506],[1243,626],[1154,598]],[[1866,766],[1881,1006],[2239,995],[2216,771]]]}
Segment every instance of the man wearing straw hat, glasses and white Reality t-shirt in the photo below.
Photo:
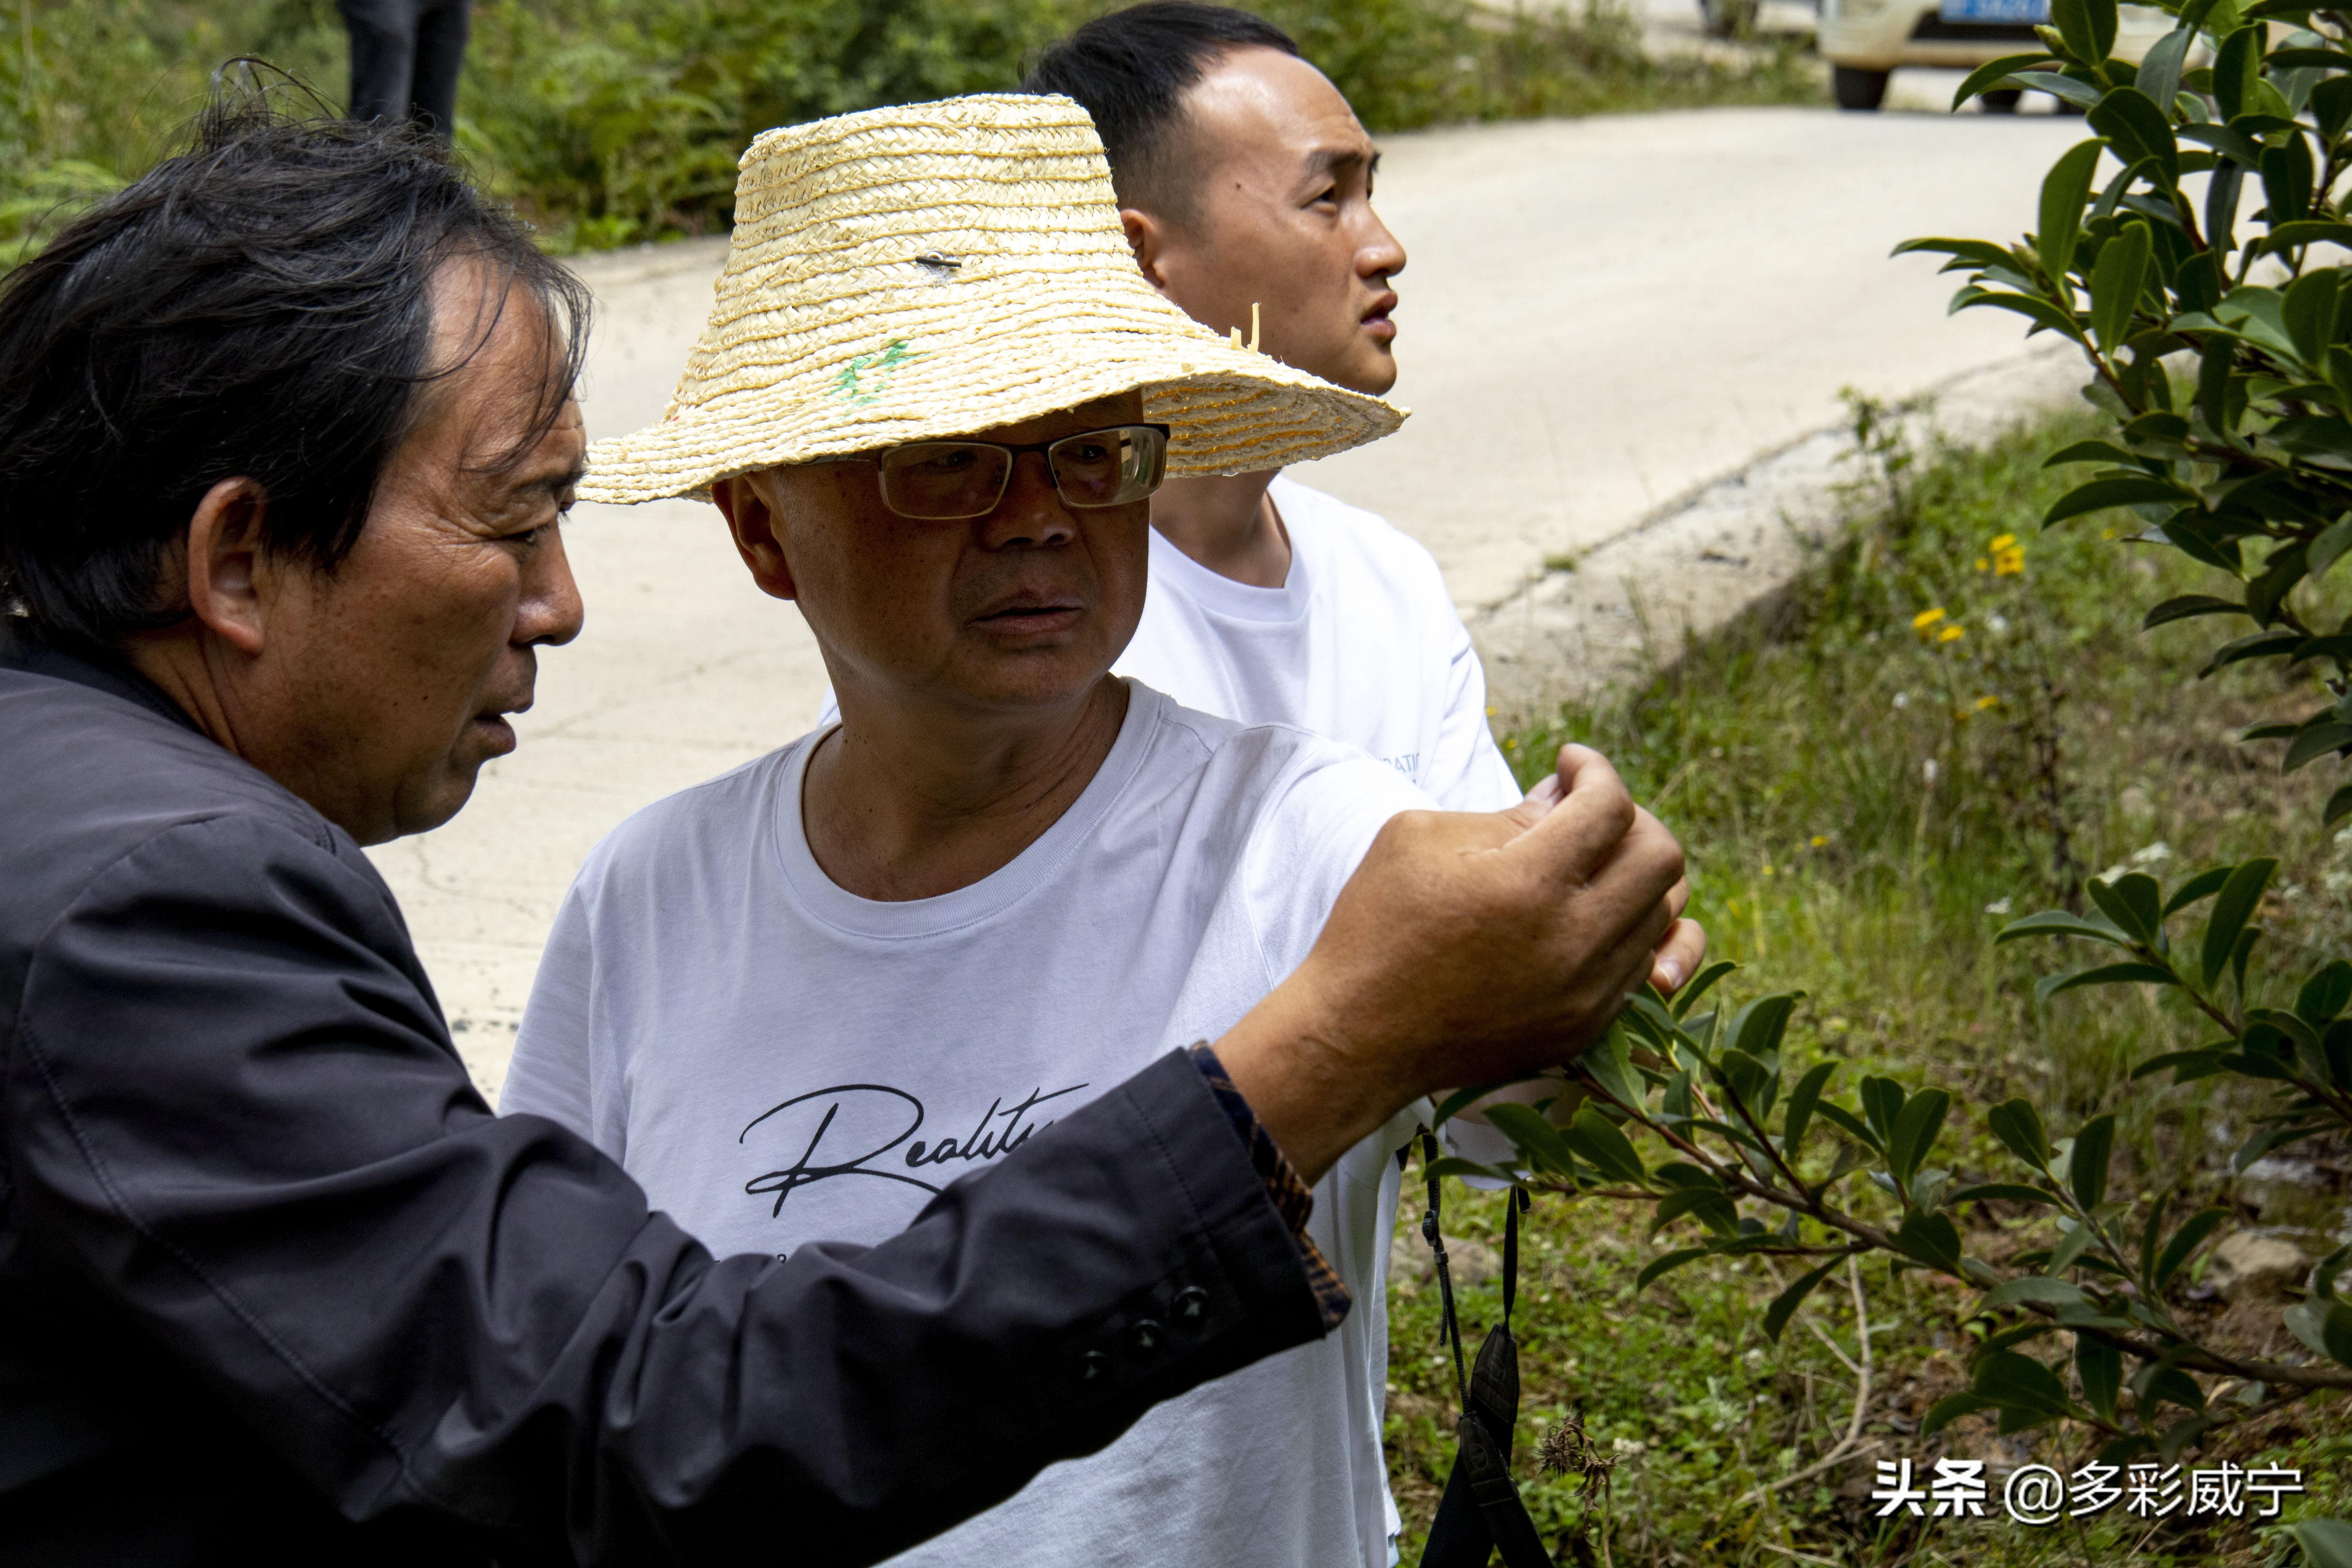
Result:
{"label": "man wearing straw hat, glasses and white Reality t-shirt", "polygon": [[[753,578],[816,632],[842,719],[597,846],[506,1107],[602,1145],[715,1248],[790,1255],[896,1234],[1230,1027],[1428,797],[1352,748],[1108,675],[1143,609],[1148,498],[1167,473],[1277,468],[1399,418],[1152,292],[1065,99],[760,136],[677,397],[595,447],[581,494],[715,498]],[[1658,980],[1696,950],[1686,926],[1668,938]],[[1305,1234],[1374,1305],[1414,1124],[1315,1187]],[[1202,1309],[1134,1319],[1077,1375],[1169,1354]],[[1376,1324],[1334,1291],[1324,1340],[913,1556],[1385,1561]]]}

